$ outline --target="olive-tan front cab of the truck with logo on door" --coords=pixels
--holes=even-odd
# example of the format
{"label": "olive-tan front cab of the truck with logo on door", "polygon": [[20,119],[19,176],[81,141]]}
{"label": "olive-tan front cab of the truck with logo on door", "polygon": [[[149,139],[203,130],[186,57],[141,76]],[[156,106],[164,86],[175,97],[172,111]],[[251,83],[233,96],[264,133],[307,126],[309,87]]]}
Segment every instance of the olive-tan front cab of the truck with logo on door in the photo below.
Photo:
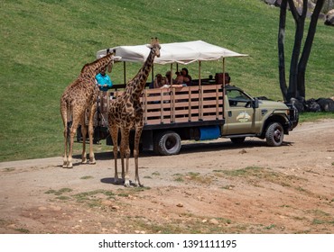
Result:
{"label": "olive-tan front cab of the truck with logo on door", "polygon": [[259,100],[236,86],[227,85],[225,124],[222,136],[241,143],[246,137],[266,139],[269,146],[280,146],[298,122],[298,112],[291,104]]}

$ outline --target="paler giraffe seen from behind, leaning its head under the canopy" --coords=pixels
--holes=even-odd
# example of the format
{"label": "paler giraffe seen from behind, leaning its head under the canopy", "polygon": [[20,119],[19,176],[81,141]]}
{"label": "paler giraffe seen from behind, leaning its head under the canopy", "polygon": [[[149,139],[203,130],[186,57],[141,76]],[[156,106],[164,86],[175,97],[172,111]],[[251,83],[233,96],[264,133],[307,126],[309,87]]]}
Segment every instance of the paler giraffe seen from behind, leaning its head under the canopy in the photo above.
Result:
{"label": "paler giraffe seen from behind, leaning its head under the canopy", "polygon": [[[103,58],[86,64],[76,80],[68,85],[60,98],[60,113],[64,125],[65,154],[63,168],[72,168],[72,151],[74,135],[79,124],[82,132],[82,163],[87,163],[86,157],[86,134],[85,112],[89,112],[88,133],[89,133],[89,163],[95,164],[96,160],[93,152],[93,117],[97,110],[98,88],[95,76],[102,68],[108,67],[109,72],[114,64],[115,51],[109,52]],[[70,125],[70,117],[72,123]],[[70,139],[69,139],[70,137]],[[70,149],[69,149],[70,148]]]}

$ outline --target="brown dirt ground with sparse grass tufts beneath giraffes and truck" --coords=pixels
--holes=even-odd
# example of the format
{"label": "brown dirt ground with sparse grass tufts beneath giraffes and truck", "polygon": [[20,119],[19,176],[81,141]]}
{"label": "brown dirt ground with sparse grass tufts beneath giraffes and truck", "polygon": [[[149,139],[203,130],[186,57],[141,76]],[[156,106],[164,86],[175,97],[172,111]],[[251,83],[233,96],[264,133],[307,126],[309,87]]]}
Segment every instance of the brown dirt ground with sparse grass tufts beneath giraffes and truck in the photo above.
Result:
{"label": "brown dirt ground with sparse grass tufts beneath giraffes and truck", "polygon": [[[62,157],[0,163],[0,233],[334,233],[334,120],[305,122],[282,147],[186,143],[139,158],[144,187]],[[134,178],[134,160],[130,162]]]}

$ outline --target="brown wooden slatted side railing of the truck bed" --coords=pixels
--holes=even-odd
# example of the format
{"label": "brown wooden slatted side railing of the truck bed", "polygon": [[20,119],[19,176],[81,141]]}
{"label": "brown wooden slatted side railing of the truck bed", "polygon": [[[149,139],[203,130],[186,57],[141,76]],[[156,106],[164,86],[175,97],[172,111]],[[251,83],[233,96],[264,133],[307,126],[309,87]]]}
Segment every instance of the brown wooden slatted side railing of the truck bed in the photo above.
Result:
{"label": "brown wooden slatted side railing of the truck bed", "polygon": [[[113,92],[114,97],[123,91]],[[221,85],[193,85],[144,89],[144,124],[223,119]]]}

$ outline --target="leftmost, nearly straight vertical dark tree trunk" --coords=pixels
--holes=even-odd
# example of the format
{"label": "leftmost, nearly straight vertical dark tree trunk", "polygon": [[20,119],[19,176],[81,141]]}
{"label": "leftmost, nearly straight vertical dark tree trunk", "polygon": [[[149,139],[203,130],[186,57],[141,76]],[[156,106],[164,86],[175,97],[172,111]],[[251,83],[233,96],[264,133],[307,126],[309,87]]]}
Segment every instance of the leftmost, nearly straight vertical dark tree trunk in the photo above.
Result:
{"label": "leftmost, nearly straight vertical dark tree trunk", "polygon": [[288,88],[285,79],[285,57],[284,57],[284,40],[285,40],[285,20],[286,20],[287,0],[281,3],[280,24],[278,31],[278,72],[280,77],[280,87],[284,102],[287,102]]}

